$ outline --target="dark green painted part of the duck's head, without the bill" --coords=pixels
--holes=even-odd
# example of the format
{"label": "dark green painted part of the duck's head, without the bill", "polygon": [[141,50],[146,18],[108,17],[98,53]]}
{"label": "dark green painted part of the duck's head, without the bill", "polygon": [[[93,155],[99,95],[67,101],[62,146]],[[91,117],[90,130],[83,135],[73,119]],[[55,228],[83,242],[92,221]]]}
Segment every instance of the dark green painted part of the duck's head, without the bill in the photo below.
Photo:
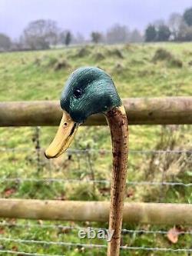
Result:
{"label": "dark green painted part of the duck's head, without the bill", "polygon": [[78,68],[61,94],[61,108],[77,123],[121,105],[111,77],[100,68]]}

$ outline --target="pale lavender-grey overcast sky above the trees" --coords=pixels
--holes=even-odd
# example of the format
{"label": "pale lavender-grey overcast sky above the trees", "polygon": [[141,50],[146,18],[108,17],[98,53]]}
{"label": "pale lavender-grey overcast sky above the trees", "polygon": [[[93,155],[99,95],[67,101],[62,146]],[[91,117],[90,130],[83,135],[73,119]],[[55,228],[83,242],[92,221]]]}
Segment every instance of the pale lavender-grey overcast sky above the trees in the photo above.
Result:
{"label": "pale lavender-grey overcast sky above the trees", "polygon": [[39,18],[86,36],[114,23],[143,30],[149,22],[190,6],[192,0],[0,0],[0,32],[18,38],[28,22]]}

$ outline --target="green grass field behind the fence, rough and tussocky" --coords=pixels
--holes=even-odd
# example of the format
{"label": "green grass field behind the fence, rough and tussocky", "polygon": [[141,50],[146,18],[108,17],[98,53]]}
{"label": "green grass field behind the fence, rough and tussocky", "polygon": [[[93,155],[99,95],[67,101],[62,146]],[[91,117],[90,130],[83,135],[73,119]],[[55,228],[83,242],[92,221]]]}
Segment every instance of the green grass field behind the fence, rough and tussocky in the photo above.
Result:
{"label": "green grass field behind the fence, rough and tussocky", "polygon": [[[55,100],[71,71],[93,65],[107,71],[118,88],[121,98],[164,97],[191,95],[192,44],[144,44],[118,46],[88,46],[41,52],[14,52],[0,54],[0,101]],[[44,149],[57,128],[1,128],[0,178],[65,178],[86,181],[110,177],[111,141],[107,127],[80,128],[71,148],[94,149],[86,154],[66,153],[58,160],[47,161]],[[41,151],[35,150],[40,140]],[[138,150],[192,150],[190,125],[131,126],[131,151]],[[4,150],[7,148],[7,150]],[[15,150],[12,150],[15,148]],[[99,151],[98,151],[99,150]],[[136,154],[129,157],[127,181],[192,181],[191,155]],[[20,182],[3,181],[1,198],[39,198],[61,200],[108,200],[109,185],[86,182]],[[191,203],[191,187],[128,186],[126,201]],[[105,244],[105,241],[80,241],[78,231],[68,228],[44,227],[49,221],[6,220],[10,226],[1,226],[0,249],[28,251],[39,254],[105,255],[104,249],[86,249],[48,244],[24,244],[2,241],[1,238],[25,240],[64,241]],[[32,224],[21,228],[15,224]],[[98,223],[64,223],[83,227],[107,227]],[[173,227],[124,224],[127,229],[169,230]],[[190,231],[191,227],[177,227]],[[160,248],[191,248],[191,235],[180,235],[176,244],[162,234],[125,234],[122,245]],[[4,253],[5,254],[5,253]],[[164,255],[154,251],[122,251],[121,255]],[[167,255],[174,253],[167,252]],[[9,254],[8,254],[9,255]],[[22,254],[21,254],[22,255]],[[189,255],[180,253],[180,255]]]}

